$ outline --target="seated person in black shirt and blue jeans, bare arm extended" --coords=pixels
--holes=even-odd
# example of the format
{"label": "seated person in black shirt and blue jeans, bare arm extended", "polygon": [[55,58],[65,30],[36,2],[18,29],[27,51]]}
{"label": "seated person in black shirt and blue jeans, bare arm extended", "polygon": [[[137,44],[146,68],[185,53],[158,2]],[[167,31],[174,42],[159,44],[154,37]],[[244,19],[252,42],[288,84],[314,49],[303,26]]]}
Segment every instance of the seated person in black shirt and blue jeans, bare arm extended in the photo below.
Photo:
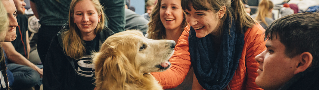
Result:
{"label": "seated person in black shirt and blue jeans, bare arm extended", "polygon": [[[10,42],[1,42],[8,59],[7,67],[13,73],[14,82],[12,89],[39,88],[42,84],[42,66],[37,66],[29,60],[29,35],[27,17],[24,14],[23,0],[13,0],[16,8],[14,17],[18,26],[15,28],[16,39]],[[12,32],[13,33],[13,32]]]}

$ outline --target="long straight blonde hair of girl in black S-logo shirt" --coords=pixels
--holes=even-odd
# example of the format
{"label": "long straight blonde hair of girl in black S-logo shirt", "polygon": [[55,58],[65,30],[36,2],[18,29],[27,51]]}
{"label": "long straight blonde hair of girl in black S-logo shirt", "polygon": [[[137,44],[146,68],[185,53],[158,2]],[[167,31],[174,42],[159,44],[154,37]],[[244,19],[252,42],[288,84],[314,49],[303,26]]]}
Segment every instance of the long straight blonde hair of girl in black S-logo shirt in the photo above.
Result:
{"label": "long straight blonde hair of girl in black S-logo shirt", "polygon": [[[75,5],[84,0],[72,0],[70,4],[70,12],[69,12],[69,27],[70,30],[62,32],[62,40],[63,40],[63,49],[64,53],[73,58],[73,59],[79,59],[85,55],[85,46],[84,41],[82,40],[82,37],[80,35],[80,30],[78,26],[73,23],[74,21],[74,7]],[[99,0],[90,0],[92,1],[93,5],[95,6],[98,15],[101,16],[100,22],[98,22],[98,25],[95,28],[95,33],[98,33],[102,31],[104,28],[104,12],[103,7],[101,6]]]}

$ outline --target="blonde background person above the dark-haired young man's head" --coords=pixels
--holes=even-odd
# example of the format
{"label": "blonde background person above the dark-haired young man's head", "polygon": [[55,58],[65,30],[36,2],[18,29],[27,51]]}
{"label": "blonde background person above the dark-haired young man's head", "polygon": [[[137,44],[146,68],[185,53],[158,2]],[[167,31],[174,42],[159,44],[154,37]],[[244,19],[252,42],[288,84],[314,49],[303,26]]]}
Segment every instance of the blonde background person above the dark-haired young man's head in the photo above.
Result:
{"label": "blonde background person above the dark-haired young man's head", "polygon": [[251,17],[260,21],[260,25],[263,26],[264,29],[274,21],[272,15],[272,9],[274,4],[270,0],[262,0],[259,5],[256,14],[251,15]]}

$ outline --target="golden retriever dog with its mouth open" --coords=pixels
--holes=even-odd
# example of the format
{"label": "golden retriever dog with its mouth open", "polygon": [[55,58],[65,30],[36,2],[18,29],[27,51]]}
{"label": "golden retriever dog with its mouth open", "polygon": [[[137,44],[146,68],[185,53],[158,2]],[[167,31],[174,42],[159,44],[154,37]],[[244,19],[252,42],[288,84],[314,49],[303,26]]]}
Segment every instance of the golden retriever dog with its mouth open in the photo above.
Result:
{"label": "golden retriever dog with its mouth open", "polygon": [[175,41],[145,38],[140,31],[108,37],[93,58],[96,90],[163,90],[150,72],[171,64]]}

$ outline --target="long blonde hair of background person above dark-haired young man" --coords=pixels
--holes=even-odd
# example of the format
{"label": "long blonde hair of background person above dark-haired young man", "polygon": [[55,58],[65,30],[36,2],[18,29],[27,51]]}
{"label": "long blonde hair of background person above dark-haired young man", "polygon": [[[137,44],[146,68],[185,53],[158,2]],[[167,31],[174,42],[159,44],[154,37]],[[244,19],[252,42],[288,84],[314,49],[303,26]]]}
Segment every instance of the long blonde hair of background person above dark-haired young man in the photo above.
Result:
{"label": "long blonde hair of background person above dark-haired young man", "polygon": [[263,22],[265,25],[268,26],[265,18],[269,17],[272,18],[272,14],[270,10],[274,7],[274,4],[270,0],[261,0],[258,5],[258,10],[256,12],[257,16],[255,17],[256,20]]}

